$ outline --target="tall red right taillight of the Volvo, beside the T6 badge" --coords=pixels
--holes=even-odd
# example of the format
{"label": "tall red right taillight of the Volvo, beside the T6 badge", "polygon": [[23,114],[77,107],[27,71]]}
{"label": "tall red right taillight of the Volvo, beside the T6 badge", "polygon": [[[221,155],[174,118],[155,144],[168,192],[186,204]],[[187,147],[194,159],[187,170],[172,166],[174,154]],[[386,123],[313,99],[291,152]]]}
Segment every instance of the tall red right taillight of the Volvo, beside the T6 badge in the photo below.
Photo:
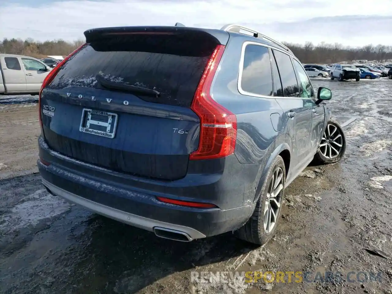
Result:
{"label": "tall red right taillight of the Volvo, beside the T6 badge", "polygon": [[200,141],[198,149],[189,155],[190,160],[223,158],[234,153],[237,118],[215,102],[210,94],[223,51],[224,45],[214,49],[193,98],[191,109],[200,118]]}

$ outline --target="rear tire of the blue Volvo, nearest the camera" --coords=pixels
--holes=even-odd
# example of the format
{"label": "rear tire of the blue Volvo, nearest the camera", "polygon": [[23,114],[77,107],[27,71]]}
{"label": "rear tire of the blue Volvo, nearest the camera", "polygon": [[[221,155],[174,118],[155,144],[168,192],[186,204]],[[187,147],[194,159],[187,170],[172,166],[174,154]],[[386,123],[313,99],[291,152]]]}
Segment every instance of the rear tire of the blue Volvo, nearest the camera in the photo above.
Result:
{"label": "rear tire of the blue Volvo, nearest the camera", "polygon": [[[279,179],[280,175],[281,175],[281,181],[279,181],[280,183],[276,184],[277,188],[275,189],[275,191],[279,187],[281,187],[281,190],[278,192],[278,195],[276,197],[268,196],[270,194],[269,192],[271,191],[271,187],[274,184],[273,181],[276,180],[276,178]],[[259,245],[263,245],[267,243],[272,238],[276,229],[276,225],[279,220],[281,204],[282,204],[282,199],[285,190],[285,181],[286,181],[285,163],[283,162],[283,158],[281,158],[281,156],[278,155],[275,158],[274,162],[272,163],[267,173],[266,180],[263,183],[263,187],[261,188],[260,197],[256,202],[256,207],[254,209],[252,216],[249,218],[247,223],[245,223],[245,225],[243,225],[240,229],[234,232],[234,235],[237,238]],[[268,208],[266,209],[267,206],[266,203],[269,204],[270,209],[271,208],[273,209],[273,206],[277,209],[276,211],[274,211],[275,214],[274,225],[269,230],[266,230],[268,229],[268,226],[265,226],[266,224],[264,221],[265,220],[264,216],[265,216],[265,212],[267,212],[267,214],[270,216],[272,216],[272,214],[269,213]],[[269,219],[271,221],[271,218]]]}

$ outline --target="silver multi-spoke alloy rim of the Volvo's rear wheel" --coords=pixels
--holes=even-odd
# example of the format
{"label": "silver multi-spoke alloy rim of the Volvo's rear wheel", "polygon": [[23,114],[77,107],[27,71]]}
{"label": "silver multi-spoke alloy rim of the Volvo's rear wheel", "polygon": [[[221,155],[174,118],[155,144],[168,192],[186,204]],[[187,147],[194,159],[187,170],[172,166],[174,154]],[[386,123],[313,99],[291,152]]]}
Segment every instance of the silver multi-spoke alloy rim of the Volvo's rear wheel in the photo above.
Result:
{"label": "silver multi-spoke alloy rim of the Volvo's rear wheel", "polygon": [[268,185],[267,198],[263,212],[264,230],[268,234],[276,225],[279,216],[279,210],[282,202],[283,194],[283,170],[277,167],[272,174],[272,178]]}

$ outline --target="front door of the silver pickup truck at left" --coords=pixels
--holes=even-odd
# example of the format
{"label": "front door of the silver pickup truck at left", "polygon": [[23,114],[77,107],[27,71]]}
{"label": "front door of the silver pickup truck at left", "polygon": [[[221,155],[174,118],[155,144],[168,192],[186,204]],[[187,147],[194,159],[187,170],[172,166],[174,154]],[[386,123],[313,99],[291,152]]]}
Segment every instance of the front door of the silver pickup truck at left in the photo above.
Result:
{"label": "front door of the silver pickup truck at left", "polygon": [[42,62],[32,58],[22,57],[21,60],[26,75],[26,91],[40,91],[42,82],[49,73],[46,66]]}

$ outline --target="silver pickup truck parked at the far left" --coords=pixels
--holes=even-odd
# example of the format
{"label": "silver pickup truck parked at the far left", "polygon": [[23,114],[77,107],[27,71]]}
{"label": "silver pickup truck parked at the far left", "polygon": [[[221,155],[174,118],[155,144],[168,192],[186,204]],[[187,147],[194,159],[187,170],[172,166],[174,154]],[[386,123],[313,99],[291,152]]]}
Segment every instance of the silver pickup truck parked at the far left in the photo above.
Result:
{"label": "silver pickup truck parked at the far left", "polygon": [[38,94],[51,68],[23,55],[0,54],[0,95]]}

